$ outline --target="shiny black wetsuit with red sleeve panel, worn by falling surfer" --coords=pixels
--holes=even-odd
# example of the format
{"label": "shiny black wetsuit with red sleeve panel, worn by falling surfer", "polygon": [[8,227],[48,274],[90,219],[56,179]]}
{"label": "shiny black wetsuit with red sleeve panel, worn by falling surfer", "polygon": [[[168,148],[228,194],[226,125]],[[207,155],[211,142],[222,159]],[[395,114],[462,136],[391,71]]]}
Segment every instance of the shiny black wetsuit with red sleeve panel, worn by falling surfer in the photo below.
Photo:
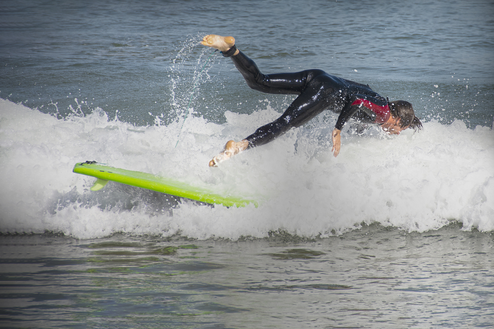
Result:
{"label": "shiny black wetsuit with red sleeve panel, worn by falling surfer", "polygon": [[335,125],[339,130],[350,117],[363,123],[384,123],[390,116],[386,99],[368,85],[322,70],[262,74],[254,61],[241,51],[230,58],[250,88],[268,94],[298,95],[278,119],[258,128],[246,138],[248,148],[269,143],[324,110],[340,113]]}

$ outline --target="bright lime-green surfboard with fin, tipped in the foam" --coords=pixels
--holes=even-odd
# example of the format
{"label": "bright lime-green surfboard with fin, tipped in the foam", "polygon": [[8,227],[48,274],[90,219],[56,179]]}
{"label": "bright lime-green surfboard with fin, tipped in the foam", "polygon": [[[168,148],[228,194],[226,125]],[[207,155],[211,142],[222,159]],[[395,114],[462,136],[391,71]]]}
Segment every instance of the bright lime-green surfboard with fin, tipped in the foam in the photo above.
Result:
{"label": "bright lime-green surfboard with fin, tipped in the foam", "polygon": [[96,177],[97,180],[91,187],[92,191],[103,188],[108,181],[123,183],[127,185],[142,187],[157,192],[167,193],[191,200],[223,205],[225,207],[245,207],[252,203],[255,207],[258,203],[243,197],[234,195],[219,195],[203,187],[192,186],[187,183],[175,181],[169,178],[163,178],[152,174],[131,171],[120,168],[109,167],[96,163],[95,161],[86,161],[76,163],[74,173]]}

